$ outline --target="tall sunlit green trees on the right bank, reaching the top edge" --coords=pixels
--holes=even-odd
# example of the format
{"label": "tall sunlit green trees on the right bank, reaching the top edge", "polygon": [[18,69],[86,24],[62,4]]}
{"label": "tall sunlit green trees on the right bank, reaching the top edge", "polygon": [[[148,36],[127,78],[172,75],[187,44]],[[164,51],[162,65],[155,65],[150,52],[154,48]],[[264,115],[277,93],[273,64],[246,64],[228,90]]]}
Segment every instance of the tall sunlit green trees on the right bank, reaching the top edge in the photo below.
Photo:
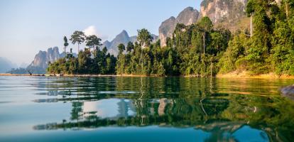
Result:
{"label": "tall sunlit green trees on the right bank, reaching the top edge", "polygon": [[249,38],[238,33],[232,38],[219,62],[220,72],[248,70],[254,74],[294,75],[294,18],[290,15],[293,9],[286,9],[287,4],[290,3],[282,1],[278,6],[273,1],[249,1],[246,13],[254,13],[254,35]]}

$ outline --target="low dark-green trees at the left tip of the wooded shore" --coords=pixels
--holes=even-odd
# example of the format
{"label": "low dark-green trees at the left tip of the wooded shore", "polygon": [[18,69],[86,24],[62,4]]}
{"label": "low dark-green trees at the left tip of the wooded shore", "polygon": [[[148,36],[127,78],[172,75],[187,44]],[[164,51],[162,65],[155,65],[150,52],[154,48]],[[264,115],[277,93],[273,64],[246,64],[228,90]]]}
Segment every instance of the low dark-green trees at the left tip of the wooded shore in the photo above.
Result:
{"label": "low dark-green trees at the left tip of the wooded shore", "polygon": [[50,74],[94,74],[94,75],[114,75],[116,73],[116,58],[114,55],[107,54],[107,48],[90,51],[80,51],[75,58],[68,54],[66,58],[60,58],[56,62],[50,63],[47,72]]}

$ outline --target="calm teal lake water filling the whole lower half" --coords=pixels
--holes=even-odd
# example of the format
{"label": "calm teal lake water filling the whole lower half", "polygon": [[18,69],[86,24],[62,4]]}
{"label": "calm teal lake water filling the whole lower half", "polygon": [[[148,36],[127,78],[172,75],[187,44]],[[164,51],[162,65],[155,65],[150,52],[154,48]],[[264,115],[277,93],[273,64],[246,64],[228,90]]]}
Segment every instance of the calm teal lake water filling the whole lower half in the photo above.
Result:
{"label": "calm teal lake water filling the whole lower half", "polygon": [[293,141],[294,80],[0,77],[0,141]]}

